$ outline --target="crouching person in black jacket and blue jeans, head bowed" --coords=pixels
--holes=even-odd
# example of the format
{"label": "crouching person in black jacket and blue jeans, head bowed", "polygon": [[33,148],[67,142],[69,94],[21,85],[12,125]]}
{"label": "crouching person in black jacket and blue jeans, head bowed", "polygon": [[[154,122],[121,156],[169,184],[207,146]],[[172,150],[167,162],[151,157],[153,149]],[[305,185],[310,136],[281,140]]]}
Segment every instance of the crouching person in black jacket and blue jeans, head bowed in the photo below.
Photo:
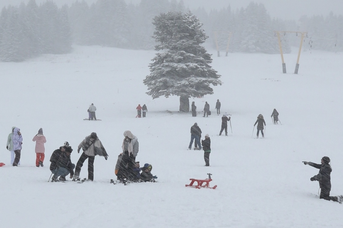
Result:
{"label": "crouching person in black jacket and blue jeans, head bowed", "polygon": [[[70,153],[73,149],[70,146],[61,146],[52,152],[50,157],[50,171],[54,174],[52,182],[65,181],[66,176],[70,173],[70,179],[73,178],[75,164],[71,163]],[[60,178],[58,178],[60,176]]]}

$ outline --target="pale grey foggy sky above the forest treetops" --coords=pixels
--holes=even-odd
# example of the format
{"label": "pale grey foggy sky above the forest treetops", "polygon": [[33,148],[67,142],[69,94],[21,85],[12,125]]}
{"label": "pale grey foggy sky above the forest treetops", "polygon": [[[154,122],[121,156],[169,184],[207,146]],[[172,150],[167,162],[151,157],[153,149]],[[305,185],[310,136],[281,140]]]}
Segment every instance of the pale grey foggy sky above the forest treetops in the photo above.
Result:
{"label": "pale grey foggy sky above the forest treetops", "polygon": [[[46,0],[36,0],[37,4]],[[81,1],[81,0],[80,0]],[[85,0],[88,4],[96,0]],[[127,3],[132,2],[137,4],[140,0],[125,0]],[[27,3],[28,0],[0,0],[0,8],[4,6],[19,5],[21,2]],[[54,0],[61,6],[63,4],[71,4],[74,0]],[[189,6],[191,10],[198,7],[204,7],[206,10],[221,9],[231,6],[231,10],[246,7],[251,0],[184,0],[185,6]],[[334,14],[343,15],[343,0],[255,0],[254,2],[263,3],[270,16],[280,19],[298,20],[302,15],[328,15],[330,11]]]}

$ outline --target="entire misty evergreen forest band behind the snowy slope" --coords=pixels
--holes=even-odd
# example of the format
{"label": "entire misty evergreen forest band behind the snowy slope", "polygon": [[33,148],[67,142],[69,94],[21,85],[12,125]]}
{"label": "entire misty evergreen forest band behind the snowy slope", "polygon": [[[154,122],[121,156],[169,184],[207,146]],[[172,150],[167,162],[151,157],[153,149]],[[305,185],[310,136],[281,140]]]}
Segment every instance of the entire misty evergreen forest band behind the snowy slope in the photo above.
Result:
{"label": "entire misty evergreen forest band behind the snowy slope", "polygon": [[[76,1],[58,8],[53,1],[39,6],[8,6],[0,14],[0,61],[22,61],[39,54],[62,54],[71,44],[102,45],[126,49],[154,49],[153,18],[170,11],[188,12],[176,0],[98,0],[88,5]],[[304,49],[343,51],[343,16],[301,17],[298,22],[272,19],[263,4],[246,8],[192,12],[209,36],[213,48],[228,52],[279,53],[274,31],[307,31]],[[230,40],[229,40],[230,38]],[[229,41],[229,42],[228,42]],[[283,51],[299,46],[300,37],[281,33]]]}

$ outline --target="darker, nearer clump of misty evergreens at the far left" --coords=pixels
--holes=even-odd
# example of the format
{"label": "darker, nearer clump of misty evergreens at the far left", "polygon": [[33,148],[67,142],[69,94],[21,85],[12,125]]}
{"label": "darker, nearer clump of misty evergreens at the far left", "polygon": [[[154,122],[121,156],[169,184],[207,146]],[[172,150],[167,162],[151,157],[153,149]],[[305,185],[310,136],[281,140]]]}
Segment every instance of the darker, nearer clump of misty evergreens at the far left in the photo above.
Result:
{"label": "darker, nearer clump of misty evergreens at the far left", "polygon": [[0,61],[18,62],[39,54],[63,54],[71,50],[68,6],[52,1],[39,6],[4,7],[0,15]]}

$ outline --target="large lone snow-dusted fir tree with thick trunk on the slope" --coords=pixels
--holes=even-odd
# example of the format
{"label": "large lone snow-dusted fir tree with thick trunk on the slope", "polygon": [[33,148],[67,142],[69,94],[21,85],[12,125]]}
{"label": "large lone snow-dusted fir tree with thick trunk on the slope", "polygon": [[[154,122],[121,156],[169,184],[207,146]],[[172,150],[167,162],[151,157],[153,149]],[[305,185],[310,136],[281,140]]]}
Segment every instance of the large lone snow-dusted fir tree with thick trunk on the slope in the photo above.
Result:
{"label": "large lone snow-dusted fir tree with thick trunk on the slope", "polygon": [[189,98],[213,94],[220,75],[210,64],[211,55],[201,45],[208,38],[191,12],[168,12],[154,17],[156,54],[144,79],[153,98],[180,96],[180,111],[189,111]]}

